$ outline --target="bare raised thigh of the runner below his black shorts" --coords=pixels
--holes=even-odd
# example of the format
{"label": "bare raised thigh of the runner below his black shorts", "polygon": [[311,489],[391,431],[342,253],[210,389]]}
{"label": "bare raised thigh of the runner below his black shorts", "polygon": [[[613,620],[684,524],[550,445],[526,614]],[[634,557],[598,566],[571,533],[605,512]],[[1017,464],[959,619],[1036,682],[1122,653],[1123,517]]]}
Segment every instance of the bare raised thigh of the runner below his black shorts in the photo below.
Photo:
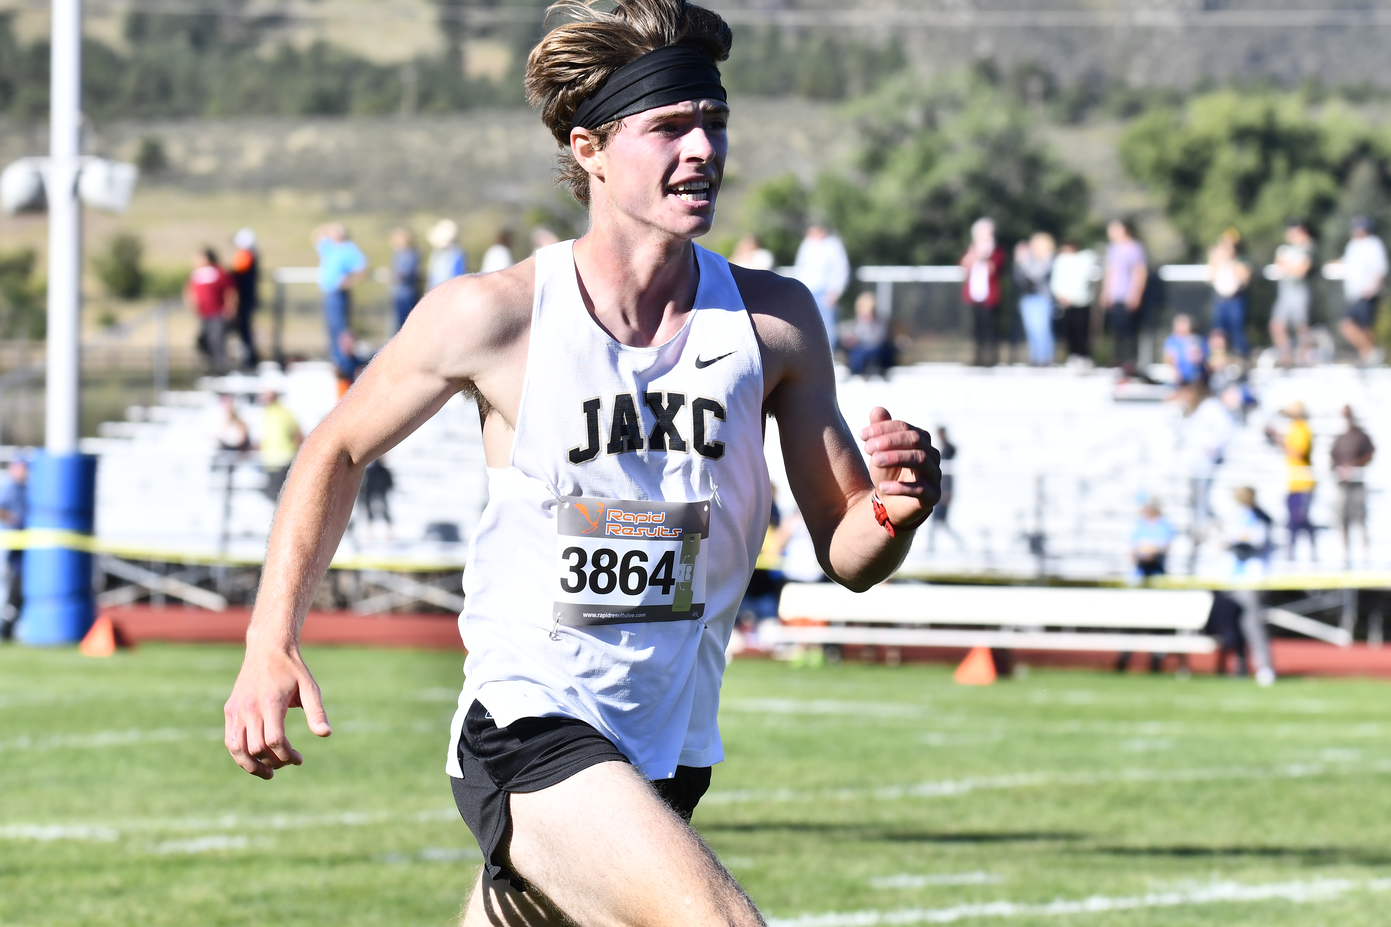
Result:
{"label": "bare raised thigh of the runner below his black shorts", "polygon": [[512,869],[584,927],[761,924],[733,877],[627,763],[513,792]]}

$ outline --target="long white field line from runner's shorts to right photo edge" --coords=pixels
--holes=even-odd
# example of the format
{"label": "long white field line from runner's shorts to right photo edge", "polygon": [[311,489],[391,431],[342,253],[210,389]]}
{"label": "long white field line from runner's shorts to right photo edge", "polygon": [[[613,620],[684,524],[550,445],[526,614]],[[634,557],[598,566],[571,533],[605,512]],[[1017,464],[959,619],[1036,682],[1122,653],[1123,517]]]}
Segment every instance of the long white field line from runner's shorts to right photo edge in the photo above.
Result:
{"label": "long white field line from runner's shorts to right photo edge", "polygon": [[910,785],[883,785],[878,788],[832,788],[817,791],[739,789],[727,792],[707,792],[702,805],[739,805],[746,802],[823,802],[823,801],[881,801],[894,802],[908,798],[946,798],[1010,788],[1034,788],[1039,785],[1104,785],[1113,782],[1206,782],[1220,780],[1281,780],[1310,778],[1317,776],[1349,776],[1356,773],[1391,773],[1391,760],[1373,763],[1288,763],[1284,766],[1223,766],[1214,769],[1123,769],[1091,773],[1040,771],[1010,773],[1007,776],[981,776],[971,778],[940,780],[936,782],[915,782]]}

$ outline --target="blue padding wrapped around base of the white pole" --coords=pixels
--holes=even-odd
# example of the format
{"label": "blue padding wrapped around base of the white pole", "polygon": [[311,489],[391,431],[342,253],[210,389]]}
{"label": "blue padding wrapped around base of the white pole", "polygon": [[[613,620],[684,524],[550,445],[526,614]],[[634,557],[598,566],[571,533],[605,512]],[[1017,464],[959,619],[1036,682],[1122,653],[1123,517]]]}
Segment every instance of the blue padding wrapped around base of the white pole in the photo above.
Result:
{"label": "blue padding wrapped around base of the white pole", "polygon": [[[92,534],[96,457],[40,453],[29,464],[28,528]],[[77,643],[96,620],[92,555],[65,548],[24,552],[19,641],[38,646]]]}

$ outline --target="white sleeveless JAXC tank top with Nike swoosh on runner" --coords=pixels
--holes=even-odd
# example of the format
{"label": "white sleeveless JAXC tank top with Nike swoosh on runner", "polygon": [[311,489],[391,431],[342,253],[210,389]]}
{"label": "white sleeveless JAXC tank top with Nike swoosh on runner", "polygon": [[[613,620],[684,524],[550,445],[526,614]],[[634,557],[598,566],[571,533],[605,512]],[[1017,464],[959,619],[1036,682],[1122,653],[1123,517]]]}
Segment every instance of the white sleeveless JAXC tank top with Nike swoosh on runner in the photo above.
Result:
{"label": "white sleeveless JAXC tank top with Nike swoosh on runner", "polygon": [[463,574],[474,699],[498,725],[574,717],[648,778],[723,759],[725,646],[768,527],[764,374],[729,264],[696,246],[684,328],[657,347],[590,317],[573,242],[536,253],[509,466]]}

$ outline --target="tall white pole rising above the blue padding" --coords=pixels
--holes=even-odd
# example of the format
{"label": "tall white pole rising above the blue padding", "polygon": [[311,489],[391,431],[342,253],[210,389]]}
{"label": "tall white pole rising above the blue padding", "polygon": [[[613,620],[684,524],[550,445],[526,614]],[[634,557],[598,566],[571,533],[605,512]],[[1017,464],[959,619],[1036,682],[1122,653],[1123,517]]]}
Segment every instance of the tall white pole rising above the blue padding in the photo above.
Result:
{"label": "tall white pole rising above the blue padding", "polygon": [[82,0],[53,0],[49,101],[49,338],[45,446],[78,449],[81,402],[82,206]]}

